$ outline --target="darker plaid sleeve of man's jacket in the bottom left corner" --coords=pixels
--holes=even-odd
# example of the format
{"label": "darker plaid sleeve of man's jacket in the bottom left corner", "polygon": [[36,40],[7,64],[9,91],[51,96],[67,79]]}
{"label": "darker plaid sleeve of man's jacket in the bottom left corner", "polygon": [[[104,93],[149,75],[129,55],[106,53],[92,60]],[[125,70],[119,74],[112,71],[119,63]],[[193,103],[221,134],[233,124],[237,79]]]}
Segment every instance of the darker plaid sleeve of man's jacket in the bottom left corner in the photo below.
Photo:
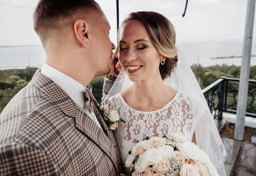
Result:
{"label": "darker plaid sleeve of man's jacket in the bottom left corner", "polygon": [[44,151],[26,144],[0,144],[3,175],[59,175],[59,169]]}

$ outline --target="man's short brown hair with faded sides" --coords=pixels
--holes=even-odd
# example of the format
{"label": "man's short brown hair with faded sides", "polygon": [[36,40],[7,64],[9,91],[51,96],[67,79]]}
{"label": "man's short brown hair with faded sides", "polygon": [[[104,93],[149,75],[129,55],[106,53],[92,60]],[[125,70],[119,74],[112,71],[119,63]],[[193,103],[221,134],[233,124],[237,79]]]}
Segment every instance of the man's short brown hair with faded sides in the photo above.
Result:
{"label": "man's short brown hair with faded sides", "polygon": [[102,13],[94,0],[40,0],[34,11],[33,27],[44,45],[53,30],[71,26],[78,18],[92,18],[92,12]]}

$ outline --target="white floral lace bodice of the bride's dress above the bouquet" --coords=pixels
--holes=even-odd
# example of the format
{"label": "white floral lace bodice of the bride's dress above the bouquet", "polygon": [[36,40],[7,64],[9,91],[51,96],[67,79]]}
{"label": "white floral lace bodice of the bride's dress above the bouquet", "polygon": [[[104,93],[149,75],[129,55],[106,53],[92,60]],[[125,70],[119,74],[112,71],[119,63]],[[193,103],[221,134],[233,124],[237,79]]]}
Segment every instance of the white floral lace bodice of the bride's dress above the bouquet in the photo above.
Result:
{"label": "white floral lace bodice of the bride's dress above the bouquet", "polygon": [[189,96],[178,91],[174,98],[157,111],[142,112],[129,107],[121,93],[107,101],[109,108],[116,110],[126,123],[119,123],[114,130],[123,164],[128,152],[144,137],[162,137],[168,133],[179,133],[192,141],[195,119]]}

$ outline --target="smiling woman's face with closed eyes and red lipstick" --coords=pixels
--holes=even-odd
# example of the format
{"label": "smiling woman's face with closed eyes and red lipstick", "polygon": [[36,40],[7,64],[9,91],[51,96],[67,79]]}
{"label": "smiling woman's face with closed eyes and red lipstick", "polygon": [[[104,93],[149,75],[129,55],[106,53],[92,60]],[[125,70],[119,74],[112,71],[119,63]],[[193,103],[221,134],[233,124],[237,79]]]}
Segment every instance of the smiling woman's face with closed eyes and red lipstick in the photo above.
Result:
{"label": "smiling woman's face with closed eyes and red lipstick", "polygon": [[131,81],[160,76],[161,55],[151,42],[144,25],[138,20],[130,20],[121,29],[118,58]]}

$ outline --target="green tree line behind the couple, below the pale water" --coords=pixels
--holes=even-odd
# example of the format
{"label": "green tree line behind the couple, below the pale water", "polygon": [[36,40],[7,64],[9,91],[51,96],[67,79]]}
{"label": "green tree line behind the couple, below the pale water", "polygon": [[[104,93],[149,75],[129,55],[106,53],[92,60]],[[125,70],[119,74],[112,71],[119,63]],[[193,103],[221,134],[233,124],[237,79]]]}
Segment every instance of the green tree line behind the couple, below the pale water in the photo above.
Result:
{"label": "green tree line behind the couple, below the pale water", "polygon": [[[240,66],[215,65],[203,67],[200,64],[191,66],[195,77],[202,89],[212,84],[220,76],[239,78]],[[28,82],[32,79],[38,68],[0,70],[0,112]],[[256,80],[256,66],[250,67],[249,79]],[[101,101],[104,76],[96,77],[91,81],[93,95],[97,101]]]}

